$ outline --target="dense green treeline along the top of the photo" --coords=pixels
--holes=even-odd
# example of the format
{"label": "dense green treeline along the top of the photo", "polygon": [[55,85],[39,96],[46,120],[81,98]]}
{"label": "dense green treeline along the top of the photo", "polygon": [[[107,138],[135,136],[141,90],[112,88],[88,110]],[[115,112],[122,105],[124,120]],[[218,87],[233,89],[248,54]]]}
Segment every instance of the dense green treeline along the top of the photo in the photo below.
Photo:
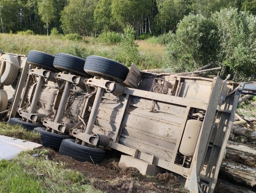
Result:
{"label": "dense green treeline along the top of the photo", "polygon": [[229,7],[256,14],[255,0],[0,0],[0,26],[4,33],[30,29],[46,34],[56,28],[97,36],[130,25],[136,35],[160,35],[175,32],[189,13],[209,18]]}

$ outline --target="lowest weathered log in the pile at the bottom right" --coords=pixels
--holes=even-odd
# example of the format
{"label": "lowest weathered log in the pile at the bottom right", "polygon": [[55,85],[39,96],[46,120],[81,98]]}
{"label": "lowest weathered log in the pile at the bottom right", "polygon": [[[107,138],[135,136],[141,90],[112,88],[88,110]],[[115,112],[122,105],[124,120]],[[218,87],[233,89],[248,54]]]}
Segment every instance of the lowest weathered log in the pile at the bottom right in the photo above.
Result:
{"label": "lowest weathered log in the pile at the bottom right", "polygon": [[221,173],[237,183],[256,185],[256,169],[224,160],[221,165]]}

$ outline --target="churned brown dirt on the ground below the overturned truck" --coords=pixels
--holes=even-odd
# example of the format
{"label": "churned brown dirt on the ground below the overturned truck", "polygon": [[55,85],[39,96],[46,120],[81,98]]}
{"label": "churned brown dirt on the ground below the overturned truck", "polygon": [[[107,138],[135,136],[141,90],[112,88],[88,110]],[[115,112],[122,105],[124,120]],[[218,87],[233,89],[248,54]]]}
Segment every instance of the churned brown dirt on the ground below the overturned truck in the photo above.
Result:
{"label": "churned brown dirt on the ground below the overturned truck", "polygon": [[[108,153],[101,164],[94,165],[91,162],[76,161],[53,150],[47,150],[49,151],[47,155],[49,160],[65,163],[67,168],[82,173],[91,185],[106,193],[188,192],[180,188],[179,179],[173,174],[163,173],[151,177],[141,175],[136,168],[120,169],[118,167],[120,154],[115,151]],[[220,177],[214,192],[252,193],[256,192],[256,189],[235,185]]]}

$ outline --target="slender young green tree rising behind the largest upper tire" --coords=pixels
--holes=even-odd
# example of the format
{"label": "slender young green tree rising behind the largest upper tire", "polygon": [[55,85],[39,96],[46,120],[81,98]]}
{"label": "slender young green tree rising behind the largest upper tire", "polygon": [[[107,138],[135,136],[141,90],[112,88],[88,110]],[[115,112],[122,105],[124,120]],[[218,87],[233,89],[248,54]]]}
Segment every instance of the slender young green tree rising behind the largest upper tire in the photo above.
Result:
{"label": "slender young green tree rising behind the largest upper tire", "polygon": [[124,28],[124,34],[122,35],[122,41],[118,51],[118,60],[127,66],[131,66],[132,62],[134,64],[138,64],[139,62],[138,44],[134,43],[134,39],[134,29],[131,26]]}

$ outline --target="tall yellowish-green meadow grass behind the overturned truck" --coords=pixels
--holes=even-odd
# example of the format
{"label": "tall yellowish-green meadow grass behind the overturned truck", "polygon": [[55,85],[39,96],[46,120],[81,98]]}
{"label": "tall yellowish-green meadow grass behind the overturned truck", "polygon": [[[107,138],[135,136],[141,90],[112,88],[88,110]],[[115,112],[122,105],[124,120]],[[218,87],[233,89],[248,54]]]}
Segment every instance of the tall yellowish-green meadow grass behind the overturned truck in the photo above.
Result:
{"label": "tall yellowish-green meadow grass behind the overturned truck", "polygon": [[[162,58],[165,53],[164,46],[152,44],[144,40],[138,41],[140,70],[161,68]],[[62,35],[50,36],[47,40],[45,35],[3,34],[0,33],[0,49],[8,53],[27,55],[30,50],[39,50],[55,55],[67,53],[86,58],[89,55],[108,57],[119,60],[118,43],[106,44],[98,39],[86,37],[80,41],[64,40]],[[125,61],[119,61],[125,63]]]}

